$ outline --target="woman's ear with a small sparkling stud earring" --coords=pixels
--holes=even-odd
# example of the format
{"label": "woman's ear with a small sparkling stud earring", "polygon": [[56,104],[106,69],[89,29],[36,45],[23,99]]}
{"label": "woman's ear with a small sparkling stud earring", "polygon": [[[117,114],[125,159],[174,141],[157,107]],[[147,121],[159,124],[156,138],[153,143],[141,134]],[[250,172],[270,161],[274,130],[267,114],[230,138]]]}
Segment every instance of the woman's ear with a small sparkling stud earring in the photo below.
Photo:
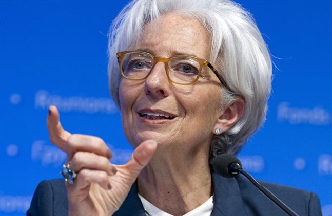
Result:
{"label": "woman's ear with a small sparkling stud earring", "polygon": [[245,101],[243,97],[237,97],[235,101],[227,105],[214,125],[213,133],[219,135],[231,128],[243,115]]}

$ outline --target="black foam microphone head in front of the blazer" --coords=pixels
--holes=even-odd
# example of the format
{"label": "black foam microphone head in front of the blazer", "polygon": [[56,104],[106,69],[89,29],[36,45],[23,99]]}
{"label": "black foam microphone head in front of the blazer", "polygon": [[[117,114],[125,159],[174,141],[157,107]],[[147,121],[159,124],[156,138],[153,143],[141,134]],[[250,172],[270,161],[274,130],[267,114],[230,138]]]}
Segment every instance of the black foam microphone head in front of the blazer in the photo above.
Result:
{"label": "black foam microphone head in front of the blazer", "polygon": [[219,175],[226,178],[233,178],[239,175],[238,173],[229,170],[229,166],[231,164],[239,164],[240,167],[242,166],[240,160],[237,157],[228,154],[218,155],[212,161],[213,169],[216,170]]}

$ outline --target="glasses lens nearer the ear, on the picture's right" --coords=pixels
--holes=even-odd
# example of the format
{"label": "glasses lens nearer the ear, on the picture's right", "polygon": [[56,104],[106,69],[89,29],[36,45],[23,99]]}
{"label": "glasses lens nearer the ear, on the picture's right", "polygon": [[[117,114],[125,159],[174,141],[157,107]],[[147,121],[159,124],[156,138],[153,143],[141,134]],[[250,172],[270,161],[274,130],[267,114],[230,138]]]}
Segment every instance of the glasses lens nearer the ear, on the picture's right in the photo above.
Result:
{"label": "glasses lens nearer the ear, on the picture's right", "polygon": [[200,62],[190,57],[174,57],[168,63],[168,71],[173,82],[189,84],[199,76]]}

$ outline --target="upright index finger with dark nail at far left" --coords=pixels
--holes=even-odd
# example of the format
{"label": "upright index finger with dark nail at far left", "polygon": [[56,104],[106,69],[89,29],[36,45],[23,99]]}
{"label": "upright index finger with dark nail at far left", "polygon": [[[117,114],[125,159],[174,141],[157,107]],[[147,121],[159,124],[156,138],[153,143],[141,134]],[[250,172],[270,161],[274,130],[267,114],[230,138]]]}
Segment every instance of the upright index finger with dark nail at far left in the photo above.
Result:
{"label": "upright index finger with dark nail at far left", "polygon": [[60,123],[60,114],[54,105],[49,107],[47,116],[47,129],[50,141],[61,150],[66,152],[66,143],[71,134],[62,128]]}

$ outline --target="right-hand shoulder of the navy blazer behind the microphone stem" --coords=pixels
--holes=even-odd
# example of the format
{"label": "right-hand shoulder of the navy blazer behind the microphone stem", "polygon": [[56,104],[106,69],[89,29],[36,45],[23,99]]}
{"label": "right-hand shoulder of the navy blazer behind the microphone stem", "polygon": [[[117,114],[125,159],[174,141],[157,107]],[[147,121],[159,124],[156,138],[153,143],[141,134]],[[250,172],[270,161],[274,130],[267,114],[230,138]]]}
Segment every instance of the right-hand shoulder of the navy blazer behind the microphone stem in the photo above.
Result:
{"label": "right-hand shoulder of the navy blazer behind the microphone stem", "polygon": [[[261,209],[261,211],[270,213],[270,215],[271,212],[280,212],[280,209],[271,203],[249,180],[238,176],[236,181],[238,182],[244,204],[250,206],[250,208],[247,208],[248,211],[250,209]],[[274,193],[299,215],[321,215],[320,202],[314,192],[265,181],[259,181],[259,183]]]}

